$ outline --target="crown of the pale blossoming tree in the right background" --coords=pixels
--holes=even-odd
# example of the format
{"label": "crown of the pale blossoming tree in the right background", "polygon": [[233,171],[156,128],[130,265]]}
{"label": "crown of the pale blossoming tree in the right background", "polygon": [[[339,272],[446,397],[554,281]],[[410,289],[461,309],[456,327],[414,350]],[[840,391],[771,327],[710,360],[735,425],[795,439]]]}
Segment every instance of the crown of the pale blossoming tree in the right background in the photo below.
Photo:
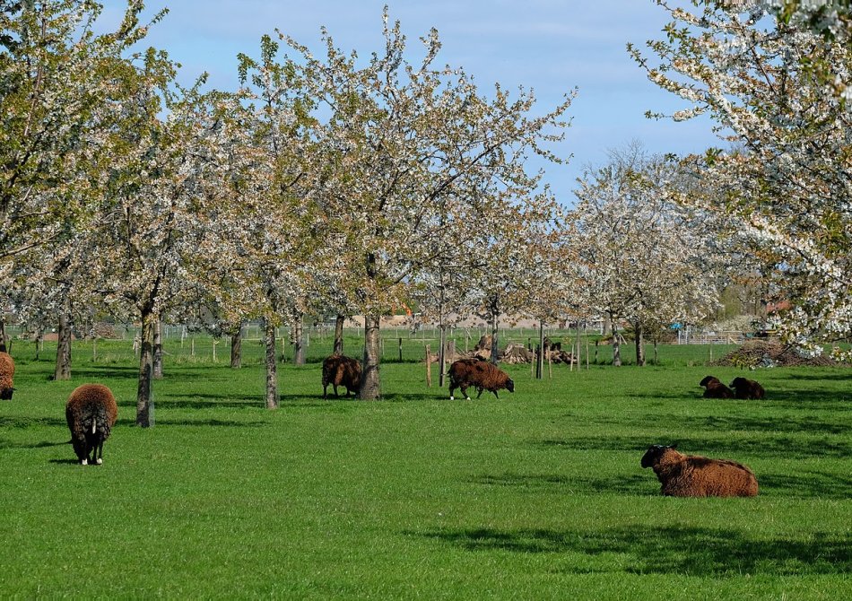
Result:
{"label": "crown of the pale blossoming tree in the right background", "polygon": [[613,326],[652,334],[697,323],[717,309],[718,262],[710,232],[667,201],[676,167],[637,144],[613,152],[580,180],[569,266],[585,301]]}

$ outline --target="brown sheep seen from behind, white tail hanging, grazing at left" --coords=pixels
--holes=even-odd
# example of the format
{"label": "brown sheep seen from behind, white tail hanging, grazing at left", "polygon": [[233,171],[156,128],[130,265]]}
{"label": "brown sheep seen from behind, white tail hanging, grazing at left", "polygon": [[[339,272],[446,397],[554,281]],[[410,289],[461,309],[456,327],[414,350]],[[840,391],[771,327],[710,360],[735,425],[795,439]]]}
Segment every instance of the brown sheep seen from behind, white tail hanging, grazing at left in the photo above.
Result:
{"label": "brown sheep seen from behind, white tail hanging, grazing at left", "polygon": [[103,442],[109,438],[117,416],[116,397],[103,384],[74,388],[65,404],[65,420],[74,453],[83,466],[103,463]]}

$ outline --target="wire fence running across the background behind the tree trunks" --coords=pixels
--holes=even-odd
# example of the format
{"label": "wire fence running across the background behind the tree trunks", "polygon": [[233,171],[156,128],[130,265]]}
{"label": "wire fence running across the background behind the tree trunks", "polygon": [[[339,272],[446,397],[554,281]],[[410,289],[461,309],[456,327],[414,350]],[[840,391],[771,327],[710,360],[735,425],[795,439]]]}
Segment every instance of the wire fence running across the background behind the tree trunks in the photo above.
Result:
{"label": "wire fence running across the background behind the tree trunks", "polygon": [[[96,336],[75,336],[72,348],[76,360],[96,363],[126,363],[139,357],[139,327],[109,324],[96,327]],[[6,327],[7,335],[13,340],[16,359],[31,358],[38,360],[55,359],[57,352],[56,332],[48,331],[39,339],[22,332],[20,327]],[[382,327],[379,330],[379,352],[384,362],[413,362],[424,361],[426,354],[432,357],[439,352],[440,330],[438,327]],[[487,327],[451,327],[448,328],[447,340],[456,354],[470,353],[484,335],[489,335]],[[275,331],[277,355],[280,361],[294,360],[295,346],[291,343],[291,328],[278,327]],[[581,361],[593,364],[609,363],[613,359],[613,348],[604,344],[597,328],[576,329],[545,328],[544,335],[553,343],[561,343],[568,350],[576,343],[578,336],[581,341]],[[501,328],[499,335],[500,349],[509,344],[520,344],[529,349],[538,345],[539,330],[537,328]],[[216,337],[203,331],[181,325],[164,325],[162,328],[163,354],[165,361],[174,364],[181,363],[213,363],[230,364],[230,337]],[[712,361],[730,348],[742,344],[745,335],[742,332],[693,333],[689,336],[668,336],[665,353],[661,353],[661,361],[689,364],[697,354],[707,355]],[[306,324],[303,327],[303,356],[308,363],[322,361],[334,350],[334,323]],[[696,345],[705,346],[703,352],[696,353]],[[683,348],[683,353],[677,351]],[[713,347],[716,348],[713,348]],[[688,347],[692,347],[689,350]],[[361,357],[364,348],[364,331],[361,327],[346,327],[343,330],[343,353]],[[648,341],[646,353],[648,361],[656,358],[654,345]],[[635,362],[635,347],[630,339],[622,339],[622,361],[627,364]],[[263,329],[259,323],[249,323],[243,327],[241,336],[241,363],[245,365],[261,364],[265,360],[265,343]],[[434,359],[432,360],[434,361]]]}

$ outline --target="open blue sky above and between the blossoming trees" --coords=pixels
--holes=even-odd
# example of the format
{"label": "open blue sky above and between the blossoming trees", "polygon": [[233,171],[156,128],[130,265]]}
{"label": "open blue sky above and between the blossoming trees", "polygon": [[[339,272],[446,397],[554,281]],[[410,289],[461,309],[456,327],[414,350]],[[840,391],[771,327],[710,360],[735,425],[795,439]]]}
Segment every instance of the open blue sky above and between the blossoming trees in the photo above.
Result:
{"label": "open blue sky above and between the blossoming trees", "polygon": [[[105,22],[117,20],[124,3],[104,4]],[[145,14],[170,9],[147,43],[183,65],[181,81],[207,71],[211,85],[232,90],[237,53],[256,57],[260,37],[276,28],[321,54],[319,28],[325,25],[338,48],[369,57],[382,48],[385,4],[391,19],[401,22],[409,48],[435,27],[443,43],[439,64],[464,67],[483,91],[495,82],[532,87],[544,111],[578,88],[569,109],[572,124],[556,149],[573,157],[567,166],[546,167],[545,180],[563,202],[575,200],[575,180],[585,167],[603,164],[608,150],[631,140],[650,152],[700,152],[722,144],[707,119],[645,118],[648,109],[684,108],[648,82],[625,49],[628,41],[644,46],[661,37],[666,14],[652,0],[146,0]]]}

